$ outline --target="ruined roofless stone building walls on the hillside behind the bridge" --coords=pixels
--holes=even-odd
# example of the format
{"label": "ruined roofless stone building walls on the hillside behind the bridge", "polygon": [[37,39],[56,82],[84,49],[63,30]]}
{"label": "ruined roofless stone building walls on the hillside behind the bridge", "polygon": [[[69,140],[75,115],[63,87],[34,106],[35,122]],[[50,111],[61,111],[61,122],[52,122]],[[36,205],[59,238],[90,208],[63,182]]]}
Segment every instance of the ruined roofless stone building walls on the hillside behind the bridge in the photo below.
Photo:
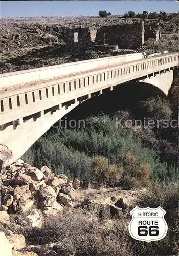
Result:
{"label": "ruined roofless stone building walls on the hillside behind the bridge", "polygon": [[64,30],[64,42],[76,45],[88,45],[90,42],[95,42],[97,45],[118,45],[121,49],[135,49],[144,44],[144,41],[149,38],[154,38],[158,41],[161,37],[159,24],[147,23],[143,21],[130,23],[103,26],[97,29],[89,27]]}

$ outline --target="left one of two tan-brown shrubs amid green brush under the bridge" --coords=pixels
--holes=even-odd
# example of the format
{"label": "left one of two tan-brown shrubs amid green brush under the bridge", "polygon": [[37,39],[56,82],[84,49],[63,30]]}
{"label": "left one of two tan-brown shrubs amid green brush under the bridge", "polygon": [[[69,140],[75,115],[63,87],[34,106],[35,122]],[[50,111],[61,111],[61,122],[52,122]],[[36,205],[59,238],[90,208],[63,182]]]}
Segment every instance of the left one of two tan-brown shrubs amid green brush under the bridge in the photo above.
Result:
{"label": "left one of two tan-brown shrubs amid green brush under the bridge", "polygon": [[110,164],[108,159],[103,156],[92,158],[92,171],[96,180],[107,186],[116,186],[123,174],[123,168],[115,164]]}

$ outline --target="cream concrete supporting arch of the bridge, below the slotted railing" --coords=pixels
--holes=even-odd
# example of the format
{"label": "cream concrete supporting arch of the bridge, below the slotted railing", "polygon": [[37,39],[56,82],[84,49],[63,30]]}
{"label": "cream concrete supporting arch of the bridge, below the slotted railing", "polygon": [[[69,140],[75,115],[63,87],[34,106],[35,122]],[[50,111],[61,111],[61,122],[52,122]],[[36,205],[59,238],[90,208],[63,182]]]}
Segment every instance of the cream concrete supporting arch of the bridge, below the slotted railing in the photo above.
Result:
{"label": "cream concrete supporting arch of the bridge, below the slotted railing", "polygon": [[[161,96],[167,95],[173,81],[173,71],[166,71],[165,73],[156,74],[154,77],[144,78],[142,80],[133,81],[136,85],[139,84],[143,88],[150,88],[154,90],[156,94]],[[130,81],[131,83],[132,81]],[[116,84],[117,86],[117,84]],[[123,84],[120,84],[122,87]],[[134,84],[135,86],[135,84]],[[115,88],[115,87],[114,87]],[[100,90],[94,93],[94,95],[100,95],[103,92],[110,91],[110,88],[105,90]],[[130,94],[130,91],[129,91]],[[10,150],[12,150],[13,155],[9,157],[1,156],[2,167],[13,163],[15,160],[20,158],[27,150],[30,148],[35,141],[37,141],[44,133],[46,133],[50,127],[55,124],[64,115],[69,113],[71,110],[76,108],[80,103],[89,99],[93,95],[86,95],[77,100],[72,100],[70,102],[63,103],[59,108],[59,105],[53,106],[48,110],[44,110],[43,113],[38,112],[31,116],[23,118],[21,123],[16,121],[10,122],[8,124],[2,125],[0,141],[5,144]],[[1,166],[0,166],[1,167]]]}

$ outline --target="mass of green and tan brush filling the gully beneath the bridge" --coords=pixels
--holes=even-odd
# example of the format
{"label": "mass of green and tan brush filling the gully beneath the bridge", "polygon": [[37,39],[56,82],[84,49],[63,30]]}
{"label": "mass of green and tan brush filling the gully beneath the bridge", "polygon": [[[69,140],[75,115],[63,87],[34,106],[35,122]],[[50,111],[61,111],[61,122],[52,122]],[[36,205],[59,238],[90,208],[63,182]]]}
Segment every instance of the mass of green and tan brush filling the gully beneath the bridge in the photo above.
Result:
{"label": "mass of green and tan brush filling the gully beneath the bridge", "polygon": [[[138,113],[154,122],[172,119],[168,102],[160,97],[140,102],[135,112],[137,119]],[[118,125],[116,118],[120,120],[121,115],[124,123],[129,118],[135,123],[135,116],[127,111],[113,117],[100,115],[98,122],[91,116],[86,118],[85,127],[58,128],[46,133],[24,154],[23,160],[38,168],[47,165],[56,174],[65,173],[69,178],[95,180],[126,189],[175,181],[176,129],[166,129],[160,122],[153,129],[134,126],[129,129]]]}

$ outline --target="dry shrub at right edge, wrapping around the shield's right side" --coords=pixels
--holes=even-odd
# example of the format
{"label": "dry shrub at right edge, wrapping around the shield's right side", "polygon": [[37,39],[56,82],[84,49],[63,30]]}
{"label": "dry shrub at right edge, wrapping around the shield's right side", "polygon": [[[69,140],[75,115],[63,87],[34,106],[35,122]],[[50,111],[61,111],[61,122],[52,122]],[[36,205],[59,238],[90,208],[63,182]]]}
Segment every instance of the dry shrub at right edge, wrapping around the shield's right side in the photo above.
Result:
{"label": "dry shrub at right edge, wrapping around the shield's right side", "polygon": [[[137,205],[141,208],[151,207],[157,208],[161,206],[166,214],[164,216],[167,225],[168,233],[161,241],[152,243],[137,242],[136,250],[139,255],[177,255],[177,235],[178,227],[178,200],[179,190],[177,183],[169,185],[152,184],[146,193],[138,196]],[[147,252],[147,253],[146,253]]]}

